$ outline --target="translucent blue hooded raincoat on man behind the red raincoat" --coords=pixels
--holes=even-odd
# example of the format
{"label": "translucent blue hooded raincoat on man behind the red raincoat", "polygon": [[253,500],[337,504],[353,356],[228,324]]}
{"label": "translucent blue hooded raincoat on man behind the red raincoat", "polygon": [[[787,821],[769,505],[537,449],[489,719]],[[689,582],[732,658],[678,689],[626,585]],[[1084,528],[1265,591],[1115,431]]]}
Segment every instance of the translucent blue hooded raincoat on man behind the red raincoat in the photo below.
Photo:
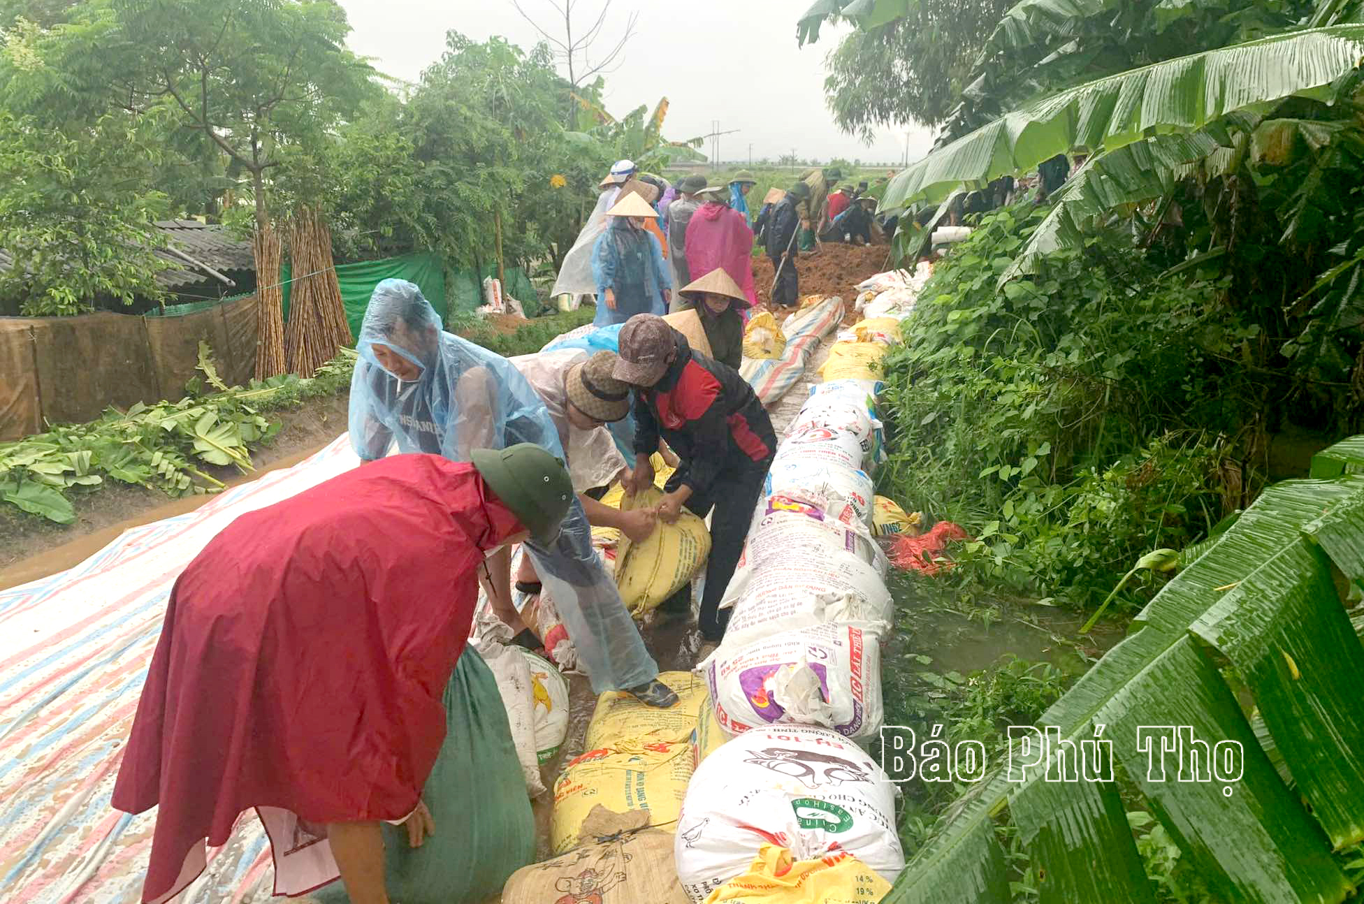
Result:
{"label": "translucent blue hooded raincoat on man behind the red raincoat", "polygon": [[[375,342],[416,364],[420,376],[401,380],[385,370]],[[375,286],[356,350],[351,445],[361,459],[383,457],[394,440],[398,451],[453,461],[468,461],[475,449],[516,443],[563,457],[558,430],[521,372],[505,357],[445,333],[415,284],[385,280]],[[592,528],[577,499],[554,543],[525,547],[595,691],[638,687],[657,676],[615,581],[592,548]]]}

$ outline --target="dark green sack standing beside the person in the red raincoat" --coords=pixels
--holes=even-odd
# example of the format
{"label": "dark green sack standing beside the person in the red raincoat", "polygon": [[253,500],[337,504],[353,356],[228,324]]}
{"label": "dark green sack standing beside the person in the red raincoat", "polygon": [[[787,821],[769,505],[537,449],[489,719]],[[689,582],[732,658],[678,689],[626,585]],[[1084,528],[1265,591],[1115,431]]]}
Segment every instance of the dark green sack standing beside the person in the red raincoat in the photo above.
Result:
{"label": "dark green sack standing beside the person in the red raincoat", "polygon": [[[460,656],[442,699],[445,743],[421,791],[435,833],[413,848],[406,826],[381,825],[389,896],[402,904],[481,901],[535,859],[535,817],[506,710],[472,646]],[[341,882],[312,897],[319,904],[351,900]]]}

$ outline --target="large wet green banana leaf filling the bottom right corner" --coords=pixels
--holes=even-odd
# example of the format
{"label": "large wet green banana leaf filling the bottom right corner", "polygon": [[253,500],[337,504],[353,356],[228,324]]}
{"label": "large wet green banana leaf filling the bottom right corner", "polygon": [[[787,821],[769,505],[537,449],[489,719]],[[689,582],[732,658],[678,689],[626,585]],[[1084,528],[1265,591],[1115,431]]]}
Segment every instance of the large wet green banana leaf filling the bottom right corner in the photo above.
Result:
{"label": "large wet green banana leaf filling the bottom right corner", "polygon": [[[1162,588],[1140,614],[1139,630],[1039,720],[1076,743],[1102,724],[1125,774],[1221,900],[1341,901],[1350,892],[1331,849],[1352,843],[1364,819],[1357,690],[1364,648],[1329,577],[1335,566],[1364,579],[1361,551],[1364,479],[1267,488]],[[1294,789],[1266,755],[1214,656],[1248,684]],[[1224,750],[1218,742],[1236,742],[1241,774],[1232,780],[1207,761],[1183,781],[1178,765],[1168,769],[1174,774],[1153,774],[1138,732],[1162,725],[1189,727],[1210,757]],[[1007,871],[985,839],[990,814],[1005,806],[1046,900],[1146,900],[1121,807],[1102,789],[1080,787],[1087,783],[1033,789],[1037,783],[1050,784],[1041,773],[1016,785],[996,774],[970,806],[944,819],[885,903],[1000,900],[990,889]],[[1117,841],[1124,837],[1128,843]],[[1087,870],[1105,878],[1090,881]]]}

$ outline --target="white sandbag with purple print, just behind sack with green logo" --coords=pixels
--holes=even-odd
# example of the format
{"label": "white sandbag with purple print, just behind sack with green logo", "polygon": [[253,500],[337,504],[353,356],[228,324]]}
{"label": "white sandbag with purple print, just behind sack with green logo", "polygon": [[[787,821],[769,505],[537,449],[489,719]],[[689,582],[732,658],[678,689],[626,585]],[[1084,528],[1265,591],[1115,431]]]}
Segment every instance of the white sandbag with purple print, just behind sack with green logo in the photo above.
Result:
{"label": "white sandbag with purple print, just behind sack with green logo", "polygon": [[[726,638],[728,641],[728,638]],[[722,642],[697,671],[731,735],[762,724],[822,725],[848,738],[881,731],[881,634],[836,622]]]}

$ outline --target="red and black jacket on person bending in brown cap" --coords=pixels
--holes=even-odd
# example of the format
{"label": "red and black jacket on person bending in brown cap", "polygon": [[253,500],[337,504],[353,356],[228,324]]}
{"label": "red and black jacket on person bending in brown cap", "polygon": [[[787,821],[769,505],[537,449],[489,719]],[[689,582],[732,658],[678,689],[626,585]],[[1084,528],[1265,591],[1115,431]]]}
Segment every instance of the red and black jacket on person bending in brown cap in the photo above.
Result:
{"label": "red and black jacket on person bending in brown cap", "polygon": [[693,352],[672,330],[677,359],[649,389],[634,393],[634,451],[651,454],[663,436],[682,459],[679,483],[708,492],[726,472],[767,473],[776,435],[747,380],[732,367]]}

